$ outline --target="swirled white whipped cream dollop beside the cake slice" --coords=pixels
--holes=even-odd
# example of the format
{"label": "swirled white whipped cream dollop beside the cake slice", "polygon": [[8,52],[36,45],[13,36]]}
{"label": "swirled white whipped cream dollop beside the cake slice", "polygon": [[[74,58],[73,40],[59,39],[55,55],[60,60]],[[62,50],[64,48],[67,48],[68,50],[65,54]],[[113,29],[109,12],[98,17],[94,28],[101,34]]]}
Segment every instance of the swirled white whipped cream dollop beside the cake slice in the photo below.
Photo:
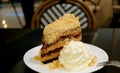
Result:
{"label": "swirled white whipped cream dollop beside the cake slice", "polygon": [[84,70],[93,59],[90,49],[80,41],[70,41],[60,51],[59,61],[69,71]]}

